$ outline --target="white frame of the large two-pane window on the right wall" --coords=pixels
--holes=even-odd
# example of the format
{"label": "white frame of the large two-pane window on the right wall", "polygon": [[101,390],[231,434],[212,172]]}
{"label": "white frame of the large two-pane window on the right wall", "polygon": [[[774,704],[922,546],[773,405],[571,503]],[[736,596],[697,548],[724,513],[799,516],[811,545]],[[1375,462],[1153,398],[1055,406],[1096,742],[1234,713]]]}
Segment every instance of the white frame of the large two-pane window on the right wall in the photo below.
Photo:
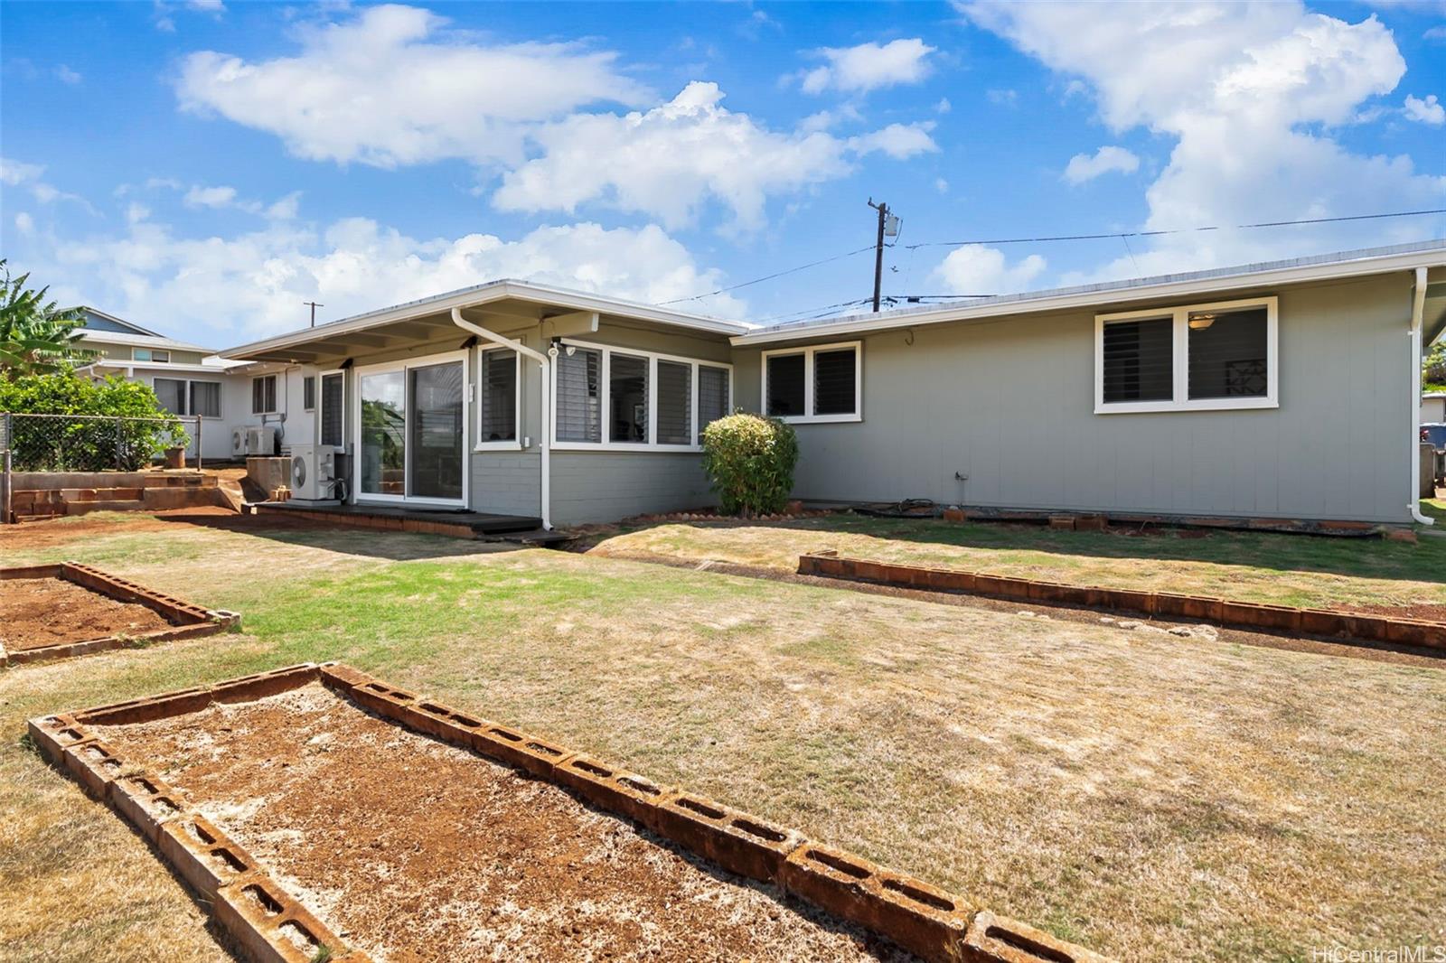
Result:
{"label": "white frame of the large two-pane window on the right wall", "polygon": [[[1241,308],[1265,308],[1265,396],[1264,398],[1199,398],[1190,399],[1190,314],[1196,311],[1236,311]],[[1239,298],[1235,301],[1210,301],[1168,308],[1141,311],[1119,311],[1095,315],[1095,414],[1119,415],[1129,412],[1157,411],[1249,411],[1280,408],[1280,299]],[[1171,318],[1171,389],[1170,401],[1105,402],[1105,325],[1115,321],[1142,321],[1147,318]]]}

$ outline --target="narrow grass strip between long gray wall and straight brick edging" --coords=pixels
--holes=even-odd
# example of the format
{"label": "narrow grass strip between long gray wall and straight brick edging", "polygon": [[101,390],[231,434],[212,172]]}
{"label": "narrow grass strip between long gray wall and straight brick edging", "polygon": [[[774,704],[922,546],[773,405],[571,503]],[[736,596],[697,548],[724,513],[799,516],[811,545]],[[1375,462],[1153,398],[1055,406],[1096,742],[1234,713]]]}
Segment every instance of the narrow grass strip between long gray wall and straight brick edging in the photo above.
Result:
{"label": "narrow grass strip between long gray wall and straight brick edging", "polygon": [[[1446,531],[1446,503],[1429,503]],[[1113,588],[1152,588],[1291,606],[1446,604],[1446,538],[1112,529],[829,515],[769,525],[690,522],[604,534],[597,554],[630,552],[794,571],[836,549],[879,561]]]}

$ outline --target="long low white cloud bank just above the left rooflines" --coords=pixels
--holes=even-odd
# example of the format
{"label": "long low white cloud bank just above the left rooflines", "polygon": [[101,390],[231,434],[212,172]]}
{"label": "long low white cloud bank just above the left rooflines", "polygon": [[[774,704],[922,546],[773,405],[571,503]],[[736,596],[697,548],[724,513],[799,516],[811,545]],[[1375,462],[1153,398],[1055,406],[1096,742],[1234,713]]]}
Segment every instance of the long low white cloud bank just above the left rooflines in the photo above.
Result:
{"label": "long low white cloud bank just above the left rooflines", "polygon": [[[133,208],[139,205],[132,205]],[[409,237],[369,218],[324,227],[269,221],[230,236],[185,236],[133,210],[121,231],[36,236],[14,265],[52,283],[62,301],[224,347],[304,324],[302,301],[331,317],[518,278],[643,302],[688,298],[724,283],[700,268],[661,227],[593,223],[493,234]],[[739,317],[743,302],[719,295],[690,308]]]}

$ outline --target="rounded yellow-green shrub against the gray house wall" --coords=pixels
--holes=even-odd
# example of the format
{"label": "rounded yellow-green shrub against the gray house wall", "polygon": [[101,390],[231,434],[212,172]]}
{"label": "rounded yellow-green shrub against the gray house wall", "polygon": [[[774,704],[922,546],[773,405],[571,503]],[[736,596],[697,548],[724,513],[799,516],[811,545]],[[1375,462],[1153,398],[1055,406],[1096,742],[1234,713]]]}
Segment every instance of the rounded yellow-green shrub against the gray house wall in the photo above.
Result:
{"label": "rounded yellow-green shrub against the gray house wall", "polygon": [[782,512],[797,464],[798,435],[777,418],[736,414],[703,429],[703,470],[729,515]]}

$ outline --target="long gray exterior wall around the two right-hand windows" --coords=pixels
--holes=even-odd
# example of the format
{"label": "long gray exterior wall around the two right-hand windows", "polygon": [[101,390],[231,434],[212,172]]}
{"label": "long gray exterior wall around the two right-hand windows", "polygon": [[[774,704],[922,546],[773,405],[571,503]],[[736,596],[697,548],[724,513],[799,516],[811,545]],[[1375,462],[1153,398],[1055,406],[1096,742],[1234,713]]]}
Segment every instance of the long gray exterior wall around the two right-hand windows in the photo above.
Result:
{"label": "long gray exterior wall around the two right-hand windows", "polygon": [[[797,425],[795,495],[1408,521],[1411,278],[1248,294],[1280,296],[1280,408],[1093,414],[1095,309],[865,335],[863,421]],[[758,411],[759,350],[733,361]]]}

